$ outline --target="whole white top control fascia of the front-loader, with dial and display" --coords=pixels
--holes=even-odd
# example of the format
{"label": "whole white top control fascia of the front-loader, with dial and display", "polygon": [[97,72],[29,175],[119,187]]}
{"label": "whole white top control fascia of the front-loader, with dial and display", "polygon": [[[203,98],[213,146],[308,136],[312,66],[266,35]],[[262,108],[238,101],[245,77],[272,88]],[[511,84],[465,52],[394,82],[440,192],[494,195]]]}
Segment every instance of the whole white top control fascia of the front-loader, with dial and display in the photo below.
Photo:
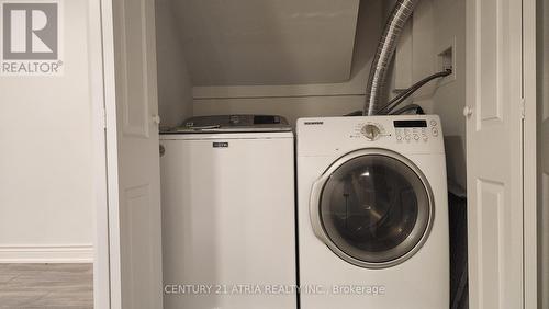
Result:
{"label": "whole white top control fascia of the front-loader, with dial and display", "polygon": [[384,148],[401,153],[444,153],[440,118],[436,115],[396,115],[301,118],[300,154],[347,153]]}

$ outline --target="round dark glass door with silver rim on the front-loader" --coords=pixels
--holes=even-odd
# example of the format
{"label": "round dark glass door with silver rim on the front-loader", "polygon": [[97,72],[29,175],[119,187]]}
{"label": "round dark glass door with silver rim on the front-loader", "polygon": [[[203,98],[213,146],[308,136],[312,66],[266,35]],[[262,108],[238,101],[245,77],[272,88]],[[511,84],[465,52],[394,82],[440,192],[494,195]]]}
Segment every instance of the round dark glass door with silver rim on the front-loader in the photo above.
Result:
{"label": "round dark glass door with silver rim on the front-loader", "polygon": [[434,220],[430,185],[405,157],[384,149],[351,152],[315,182],[311,220],[343,260],[386,268],[412,258]]}

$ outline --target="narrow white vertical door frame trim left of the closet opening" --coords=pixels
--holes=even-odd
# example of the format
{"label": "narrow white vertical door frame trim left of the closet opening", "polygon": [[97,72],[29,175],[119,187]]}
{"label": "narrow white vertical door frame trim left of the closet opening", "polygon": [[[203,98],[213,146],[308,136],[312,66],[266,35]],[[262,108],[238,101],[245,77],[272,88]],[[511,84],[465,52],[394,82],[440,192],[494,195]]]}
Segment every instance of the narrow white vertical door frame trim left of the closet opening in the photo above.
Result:
{"label": "narrow white vertical door frame trim left of the closet opening", "polygon": [[[88,1],[88,42],[93,138],[94,186],[94,308],[111,308],[109,205],[117,203],[117,186],[108,182],[116,173],[116,105],[114,101],[114,41],[112,0]],[[115,199],[115,201],[112,201]]]}

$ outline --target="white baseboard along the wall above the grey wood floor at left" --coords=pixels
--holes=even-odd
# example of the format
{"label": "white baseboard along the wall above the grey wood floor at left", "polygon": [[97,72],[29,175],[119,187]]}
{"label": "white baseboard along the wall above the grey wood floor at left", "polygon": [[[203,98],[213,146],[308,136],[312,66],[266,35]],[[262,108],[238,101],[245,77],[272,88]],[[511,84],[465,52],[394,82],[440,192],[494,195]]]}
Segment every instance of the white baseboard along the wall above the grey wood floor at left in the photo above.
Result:
{"label": "white baseboard along the wall above the grey wood floor at left", "polygon": [[0,245],[0,263],[93,263],[93,245]]}

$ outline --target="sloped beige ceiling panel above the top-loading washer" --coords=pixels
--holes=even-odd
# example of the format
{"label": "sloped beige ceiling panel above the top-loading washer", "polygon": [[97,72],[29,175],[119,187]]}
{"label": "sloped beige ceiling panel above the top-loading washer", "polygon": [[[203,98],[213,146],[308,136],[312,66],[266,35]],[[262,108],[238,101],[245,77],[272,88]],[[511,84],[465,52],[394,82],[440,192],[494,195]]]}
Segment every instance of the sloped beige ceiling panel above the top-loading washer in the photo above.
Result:
{"label": "sloped beige ceiling panel above the top-loading washer", "polygon": [[349,78],[359,2],[179,0],[173,11],[195,85],[322,83]]}

